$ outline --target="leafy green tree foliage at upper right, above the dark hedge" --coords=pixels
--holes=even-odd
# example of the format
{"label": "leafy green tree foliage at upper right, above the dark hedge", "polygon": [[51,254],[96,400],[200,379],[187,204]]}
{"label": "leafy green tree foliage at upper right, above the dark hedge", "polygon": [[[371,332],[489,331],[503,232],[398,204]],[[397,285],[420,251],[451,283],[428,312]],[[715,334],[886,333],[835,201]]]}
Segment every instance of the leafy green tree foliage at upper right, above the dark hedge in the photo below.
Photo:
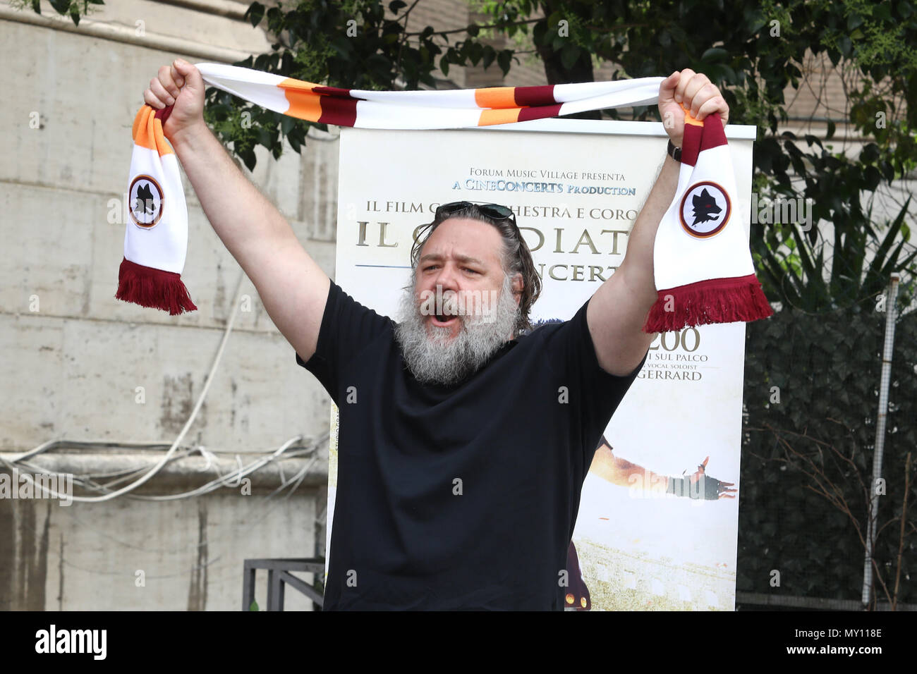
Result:
{"label": "leafy green tree foliage at upper right, above the dark hedge", "polygon": [[[804,236],[790,224],[752,224],[753,257],[771,301],[806,311],[849,306],[880,292],[894,272],[902,277],[902,297],[912,296],[911,201],[891,220],[877,222],[872,210],[881,185],[917,168],[917,10],[910,2],[487,0],[478,6],[508,21],[543,12],[532,41],[551,83],[591,79],[591,68],[581,65],[591,55],[610,63],[615,79],[691,68],[720,87],[730,121],[759,128],[755,192],[762,199],[812,200],[813,227]],[[569,38],[560,35],[562,20]],[[778,135],[788,121],[785,90],[807,85],[801,63],[810,52],[842,66],[849,121],[867,138],[856,157],[826,149],[813,136]],[[657,108],[637,109],[634,118],[658,118]],[[831,138],[836,123],[827,126]]]}

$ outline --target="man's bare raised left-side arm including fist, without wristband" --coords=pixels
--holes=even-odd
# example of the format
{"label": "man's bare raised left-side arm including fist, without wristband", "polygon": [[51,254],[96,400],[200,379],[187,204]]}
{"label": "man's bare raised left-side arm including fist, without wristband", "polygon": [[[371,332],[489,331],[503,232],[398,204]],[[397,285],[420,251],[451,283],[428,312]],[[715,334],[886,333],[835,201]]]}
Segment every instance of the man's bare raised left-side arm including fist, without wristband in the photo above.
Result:
{"label": "man's bare raised left-side arm including fist, without wristband", "polygon": [[204,214],[258,290],[274,325],[304,360],[315,353],[330,279],[277,208],[239,171],[204,123],[204,80],[181,59],[162,66],[144,101],[173,105],[162,132]]}

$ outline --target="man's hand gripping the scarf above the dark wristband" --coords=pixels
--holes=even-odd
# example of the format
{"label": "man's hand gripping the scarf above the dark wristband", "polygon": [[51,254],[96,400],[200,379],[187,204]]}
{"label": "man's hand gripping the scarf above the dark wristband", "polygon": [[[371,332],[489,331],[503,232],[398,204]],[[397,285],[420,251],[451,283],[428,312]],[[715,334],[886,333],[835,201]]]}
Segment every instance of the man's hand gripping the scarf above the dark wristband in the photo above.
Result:
{"label": "man's hand gripping the scarf above the dark wristband", "polygon": [[716,114],[725,127],[729,120],[729,105],[726,105],[723,94],[706,75],[690,68],[673,72],[659,85],[659,116],[668,138],[677,148],[681,147],[681,139],[684,138],[685,109],[698,121]]}

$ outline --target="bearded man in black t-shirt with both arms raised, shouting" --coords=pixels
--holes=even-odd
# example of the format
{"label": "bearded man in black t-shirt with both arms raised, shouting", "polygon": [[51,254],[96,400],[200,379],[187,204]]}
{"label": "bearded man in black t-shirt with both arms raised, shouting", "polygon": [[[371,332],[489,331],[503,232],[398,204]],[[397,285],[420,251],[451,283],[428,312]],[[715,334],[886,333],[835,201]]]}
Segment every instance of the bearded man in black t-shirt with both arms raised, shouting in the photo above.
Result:
{"label": "bearded man in black t-shirt with both arms raised, shouting", "polygon": [[563,610],[582,482],[655,337],[642,326],[681,104],[725,124],[716,87],[689,70],[660,85],[669,156],[624,261],[573,318],[528,334],[540,281],[509,208],[436,210],[396,323],[332,282],[238,171],[193,65],[160,68],[144,100],[173,106],[163,132],[204,213],[339,408],[325,610]]}

